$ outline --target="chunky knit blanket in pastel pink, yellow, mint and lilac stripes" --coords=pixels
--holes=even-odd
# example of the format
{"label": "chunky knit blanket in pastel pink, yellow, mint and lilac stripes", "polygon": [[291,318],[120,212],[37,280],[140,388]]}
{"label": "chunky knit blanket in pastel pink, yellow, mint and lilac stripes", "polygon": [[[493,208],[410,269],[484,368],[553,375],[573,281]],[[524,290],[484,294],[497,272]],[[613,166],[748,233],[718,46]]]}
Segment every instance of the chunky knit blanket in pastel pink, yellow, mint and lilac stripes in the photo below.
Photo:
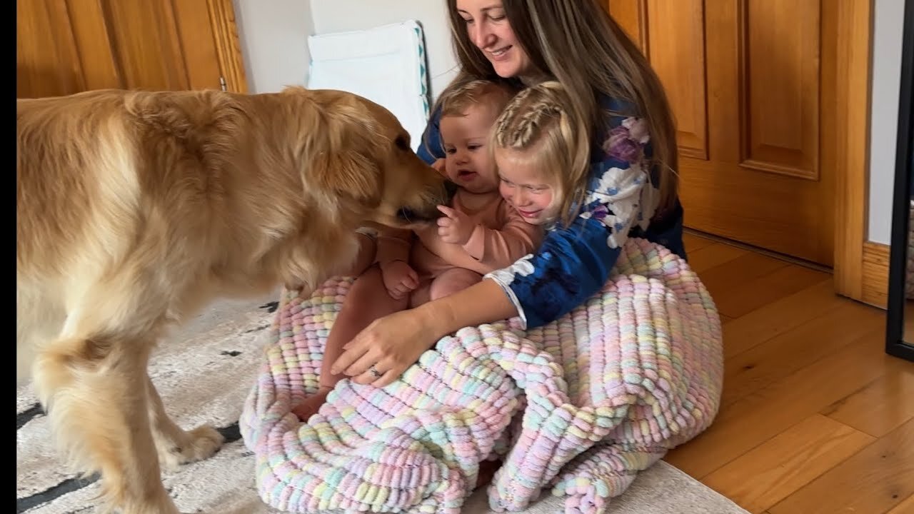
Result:
{"label": "chunky knit blanket in pastel pink, yellow, mint and lilac stripes", "polygon": [[543,487],[566,512],[605,512],[637,473],[704,431],[722,386],[720,318],[665,248],[630,239],[599,294],[556,322],[516,318],[443,337],[386,388],[339,382],[320,412],[325,337],[351,279],[282,297],[241,416],[260,497],[275,509],[458,513],[479,463],[504,465],[497,511]]}

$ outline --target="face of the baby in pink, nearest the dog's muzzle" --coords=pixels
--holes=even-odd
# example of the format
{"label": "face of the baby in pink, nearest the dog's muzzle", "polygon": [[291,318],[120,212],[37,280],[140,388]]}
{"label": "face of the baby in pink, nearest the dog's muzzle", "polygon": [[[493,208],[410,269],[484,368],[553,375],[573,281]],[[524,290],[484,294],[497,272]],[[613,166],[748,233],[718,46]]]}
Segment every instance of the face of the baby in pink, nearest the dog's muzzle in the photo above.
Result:
{"label": "face of the baby in pink, nearest the dog's muzzle", "polygon": [[498,188],[494,162],[485,147],[498,113],[489,103],[476,103],[463,116],[441,116],[448,178],[471,193]]}

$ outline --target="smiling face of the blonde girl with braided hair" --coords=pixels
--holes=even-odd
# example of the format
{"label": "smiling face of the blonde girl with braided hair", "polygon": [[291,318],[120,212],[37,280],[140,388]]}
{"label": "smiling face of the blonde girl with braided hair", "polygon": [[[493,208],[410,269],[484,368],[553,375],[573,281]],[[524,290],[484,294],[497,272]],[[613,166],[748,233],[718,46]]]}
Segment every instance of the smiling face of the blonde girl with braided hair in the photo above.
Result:
{"label": "smiling face of the blonde girl with braided hair", "polygon": [[501,175],[498,190],[502,198],[527,223],[541,225],[555,218],[558,206],[552,205],[556,188],[534,161],[516,150],[495,150],[495,162]]}

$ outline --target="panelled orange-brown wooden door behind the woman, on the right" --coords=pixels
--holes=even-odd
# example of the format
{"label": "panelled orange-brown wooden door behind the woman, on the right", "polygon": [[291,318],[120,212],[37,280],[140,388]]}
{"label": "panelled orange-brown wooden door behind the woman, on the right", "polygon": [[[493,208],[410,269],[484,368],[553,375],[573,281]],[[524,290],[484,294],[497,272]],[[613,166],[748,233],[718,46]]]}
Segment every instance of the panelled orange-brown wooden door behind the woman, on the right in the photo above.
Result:
{"label": "panelled orange-brown wooden door behind the woman, on the right", "polygon": [[608,0],[673,105],[687,227],[833,264],[837,4]]}

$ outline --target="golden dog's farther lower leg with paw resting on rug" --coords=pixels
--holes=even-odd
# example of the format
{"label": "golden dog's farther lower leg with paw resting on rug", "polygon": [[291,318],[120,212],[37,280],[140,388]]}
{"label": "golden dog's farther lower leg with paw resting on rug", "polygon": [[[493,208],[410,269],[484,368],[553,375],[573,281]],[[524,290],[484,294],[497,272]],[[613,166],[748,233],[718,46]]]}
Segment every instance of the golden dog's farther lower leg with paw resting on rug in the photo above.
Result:
{"label": "golden dog's farther lower leg with paw resting on rug", "polygon": [[182,464],[205,459],[215,454],[225,441],[225,437],[209,425],[201,425],[186,432],[175,424],[165,412],[162,398],[148,376],[146,393],[155,448],[159,453],[159,462],[166,469],[174,470]]}

